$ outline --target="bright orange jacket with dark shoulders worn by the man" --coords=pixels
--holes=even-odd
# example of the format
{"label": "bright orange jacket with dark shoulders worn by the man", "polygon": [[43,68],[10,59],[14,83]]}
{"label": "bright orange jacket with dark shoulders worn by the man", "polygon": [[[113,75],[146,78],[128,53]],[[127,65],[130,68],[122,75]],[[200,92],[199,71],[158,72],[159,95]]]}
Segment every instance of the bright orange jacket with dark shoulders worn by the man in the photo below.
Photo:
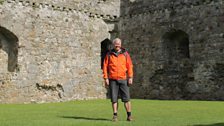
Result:
{"label": "bright orange jacket with dark shoulders worn by the man", "polygon": [[103,63],[103,78],[125,80],[127,77],[133,77],[133,64],[128,52],[124,49],[118,55],[114,51],[109,52]]}

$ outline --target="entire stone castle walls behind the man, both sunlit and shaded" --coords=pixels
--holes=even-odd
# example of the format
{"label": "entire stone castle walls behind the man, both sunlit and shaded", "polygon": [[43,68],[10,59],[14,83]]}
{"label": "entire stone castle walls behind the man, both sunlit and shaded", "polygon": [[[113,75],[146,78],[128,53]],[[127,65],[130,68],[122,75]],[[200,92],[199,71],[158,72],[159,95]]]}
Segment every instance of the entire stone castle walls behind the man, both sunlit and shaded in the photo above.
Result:
{"label": "entire stone castle walls behind the man, both sunlit and shaded", "polygon": [[0,103],[106,98],[115,37],[132,98],[224,100],[223,29],[223,0],[0,0]]}

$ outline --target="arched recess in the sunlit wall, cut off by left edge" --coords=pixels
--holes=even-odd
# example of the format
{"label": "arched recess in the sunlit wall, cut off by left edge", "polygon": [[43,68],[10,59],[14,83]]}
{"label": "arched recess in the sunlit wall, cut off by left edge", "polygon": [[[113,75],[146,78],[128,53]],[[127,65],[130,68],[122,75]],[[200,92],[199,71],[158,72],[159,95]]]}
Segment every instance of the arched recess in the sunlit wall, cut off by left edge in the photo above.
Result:
{"label": "arched recess in the sunlit wall, cut off by left edge", "polygon": [[0,49],[8,54],[8,71],[14,72],[18,64],[18,37],[0,26]]}

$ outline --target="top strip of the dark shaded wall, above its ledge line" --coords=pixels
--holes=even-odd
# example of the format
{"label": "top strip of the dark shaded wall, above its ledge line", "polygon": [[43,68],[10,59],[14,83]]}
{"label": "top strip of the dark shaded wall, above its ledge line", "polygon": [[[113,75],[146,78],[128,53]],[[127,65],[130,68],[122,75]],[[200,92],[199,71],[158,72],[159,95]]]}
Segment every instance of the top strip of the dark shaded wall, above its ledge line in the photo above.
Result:
{"label": "top strip of the dark shaded wall, above its ledge line", "polygon": [[164,13],[173,10],[192,9],[200,5],[223,4],[223,0],[122,0],[121,16],[134,16],[146,13]]}

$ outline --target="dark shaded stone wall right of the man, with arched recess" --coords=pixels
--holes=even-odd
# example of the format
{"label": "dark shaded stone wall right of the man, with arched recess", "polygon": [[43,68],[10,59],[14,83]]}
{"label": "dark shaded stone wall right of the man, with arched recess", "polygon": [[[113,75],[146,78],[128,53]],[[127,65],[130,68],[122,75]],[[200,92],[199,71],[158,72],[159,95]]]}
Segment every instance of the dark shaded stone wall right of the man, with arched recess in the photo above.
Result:
{"label": "dark shaded stone wall right of the man, with arched recess", "polygon": [[132,96],[224,100],[223,0],[122,0]]}

